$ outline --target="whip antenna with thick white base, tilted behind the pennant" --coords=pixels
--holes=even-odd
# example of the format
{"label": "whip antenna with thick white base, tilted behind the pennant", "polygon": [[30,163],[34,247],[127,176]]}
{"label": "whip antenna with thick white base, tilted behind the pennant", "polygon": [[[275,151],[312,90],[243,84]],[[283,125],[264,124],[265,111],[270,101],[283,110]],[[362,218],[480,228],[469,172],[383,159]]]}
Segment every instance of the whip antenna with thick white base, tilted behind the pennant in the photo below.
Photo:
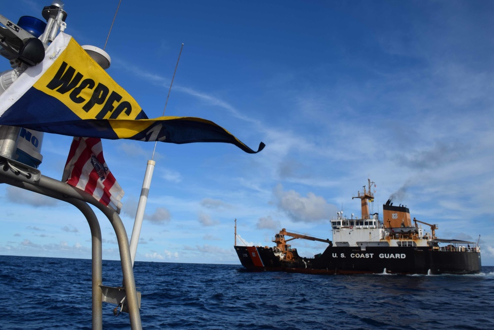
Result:
{"label": "whip antenna with thick white base, tilted behind the pennant", "polygon": [[[163,115],[165,115],[166,104],[168,103],[168,97],[170,97],[171,86],[173,85],[173,80],[175,79],[175,73],[177,72],[178,61],[180,60],[180,55],[182,54],[182,47],[180,47],[180,53],[178,54],[177,64],[175,65],[175,71],[173,72],[173,77],[171,78],[170,89],[168,90],[168,96],[166,96],[165,108],[163,109]],[[137,244],[139,242],[139,236],[141,235],[142,220],[144,219],[144,211],[146,210],[146,203],[148,201],[149,189],[151,187],[151,180],[153,179],[153,171],[156,162],[153,160],[156,144],[153,149],[153,155],[151,159],[148,160],[148,165],[146,167],[146,172],[144,173],[144,181],[142,182],[141,196],[139,197],[139,203],[137,204],[137,211],[135,213],[134,227],[132,228],[132,236],[130,236],[130,259],[132,260],[132,267],[134,266],[135,254],[137,253]]]}

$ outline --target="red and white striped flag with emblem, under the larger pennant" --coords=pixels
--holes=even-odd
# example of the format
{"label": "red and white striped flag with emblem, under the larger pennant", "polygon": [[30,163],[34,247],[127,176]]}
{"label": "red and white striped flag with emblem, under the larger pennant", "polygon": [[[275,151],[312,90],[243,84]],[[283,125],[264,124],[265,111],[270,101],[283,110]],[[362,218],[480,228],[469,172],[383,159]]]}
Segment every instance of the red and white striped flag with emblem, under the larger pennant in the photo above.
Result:
{"label": "red and white striped flag with emblem, under the larger pennant", "polygon": [[106,165],[101,139],[72,140],[62,182],[88,192],[99,202],[120,213],[124,190]]}

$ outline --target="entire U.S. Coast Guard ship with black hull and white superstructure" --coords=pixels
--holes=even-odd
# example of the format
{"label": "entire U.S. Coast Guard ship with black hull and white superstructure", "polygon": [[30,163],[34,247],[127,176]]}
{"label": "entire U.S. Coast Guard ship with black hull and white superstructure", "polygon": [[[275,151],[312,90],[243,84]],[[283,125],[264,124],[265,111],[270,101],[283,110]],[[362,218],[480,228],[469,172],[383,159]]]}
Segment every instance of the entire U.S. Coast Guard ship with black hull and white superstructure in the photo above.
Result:
{"label": "entire U.S. Coast Guard ship with black hull and white superstructure", "polygon": [[[477,242],[436,237],[438,225],[410,217],[405,205],[382,206],[383,217],[370,214],[373,182],[352,197],[361,200],[360,218],[343,212],[331,220],[333,240],[290,233],[275,235],[274,247],[238,246],[235,250],[248,271],[306,274],[475,274],[482,267]],[[413,222],[413,223],[412,223]],[[426,231],[418,224],[430,228]],[[235,233],[235,237],[237,233]],[[290,237],[290,238],[287,238]],[[288,241],[308,239],[328,243],[326,250],[311,258],[298,255]]]}

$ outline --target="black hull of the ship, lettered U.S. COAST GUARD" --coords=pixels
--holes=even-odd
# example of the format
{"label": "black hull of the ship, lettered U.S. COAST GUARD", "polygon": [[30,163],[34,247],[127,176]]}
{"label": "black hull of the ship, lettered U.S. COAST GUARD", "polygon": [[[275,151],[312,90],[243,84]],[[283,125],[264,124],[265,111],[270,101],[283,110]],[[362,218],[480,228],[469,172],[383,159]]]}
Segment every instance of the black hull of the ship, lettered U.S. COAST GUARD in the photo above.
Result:
{"label": "black hull of the ship, lettered U.S. COAST GUARD", "polygon": [[428,247],[329,246],[314,258],[294,255],[281,260],[272,248],[235,246],[249,271],[307,274],[475,274],[482,267],[480,252],[439,251]]}

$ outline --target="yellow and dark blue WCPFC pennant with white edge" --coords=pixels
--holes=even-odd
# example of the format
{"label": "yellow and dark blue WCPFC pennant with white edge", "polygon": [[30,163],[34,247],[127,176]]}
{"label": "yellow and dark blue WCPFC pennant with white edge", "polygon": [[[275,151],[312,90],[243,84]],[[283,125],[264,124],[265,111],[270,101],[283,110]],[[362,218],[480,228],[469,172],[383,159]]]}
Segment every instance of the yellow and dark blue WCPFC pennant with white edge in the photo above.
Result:
{"label": "yellow and dark blue WCPFC pennant with white edge", "polygon": [[0,96],[0,125],[100,139],[169,143],[226,142],[250,149],[206,119],[148,119],[139,104],[69,35],[60,33],[44,60],[29,67]]}

